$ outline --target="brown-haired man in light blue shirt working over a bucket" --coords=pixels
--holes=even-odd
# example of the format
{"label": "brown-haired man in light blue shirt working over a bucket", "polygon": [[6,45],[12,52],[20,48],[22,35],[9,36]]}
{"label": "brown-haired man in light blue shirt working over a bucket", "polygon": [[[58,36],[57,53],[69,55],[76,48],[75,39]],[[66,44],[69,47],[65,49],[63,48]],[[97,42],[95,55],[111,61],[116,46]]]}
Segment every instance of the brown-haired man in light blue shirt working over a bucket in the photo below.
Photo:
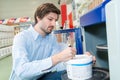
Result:
{"label": "brown-haired man in light blue shirt working over a bucket", "polygon": [[35,25],[15,36],[10,80],[61,80],[63,62],[75,56],[76,49],[60,46],[52,32],[60,10],[52,3],[40,5]]}

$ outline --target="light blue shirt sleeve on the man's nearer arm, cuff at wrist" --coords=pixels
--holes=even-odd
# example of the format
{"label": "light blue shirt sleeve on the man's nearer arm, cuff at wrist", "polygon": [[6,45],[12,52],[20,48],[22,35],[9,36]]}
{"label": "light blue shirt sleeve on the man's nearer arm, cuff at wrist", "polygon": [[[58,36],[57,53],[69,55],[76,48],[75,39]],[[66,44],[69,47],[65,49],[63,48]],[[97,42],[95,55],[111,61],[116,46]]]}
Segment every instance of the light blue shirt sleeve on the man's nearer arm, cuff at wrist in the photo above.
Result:
{"label": "light blue shirt sleeve on the man's nearer arm, cuff at wrist", "polygon": [[17,35],[14,38],[12,48],[13,69],[15,74],[23,80],[31,80],[34,77],[49,72],[52,67],[51,57],[43,60],[29,61],[27,57],[29,53],[26,47],[26,38]]}

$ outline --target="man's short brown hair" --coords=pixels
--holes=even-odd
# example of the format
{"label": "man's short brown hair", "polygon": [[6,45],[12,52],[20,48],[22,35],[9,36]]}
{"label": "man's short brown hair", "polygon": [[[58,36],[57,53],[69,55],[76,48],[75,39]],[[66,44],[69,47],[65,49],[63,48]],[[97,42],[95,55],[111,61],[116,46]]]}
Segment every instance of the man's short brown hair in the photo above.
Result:
{"label": "man's short brown hair", "polygon": [[52,3],[44,3],[40,5],[34,14],[35,24],[37,23],[37,18],[44,18],[45,15],[49,14],[50,12],[56,13],[60,15],[60,10]]}

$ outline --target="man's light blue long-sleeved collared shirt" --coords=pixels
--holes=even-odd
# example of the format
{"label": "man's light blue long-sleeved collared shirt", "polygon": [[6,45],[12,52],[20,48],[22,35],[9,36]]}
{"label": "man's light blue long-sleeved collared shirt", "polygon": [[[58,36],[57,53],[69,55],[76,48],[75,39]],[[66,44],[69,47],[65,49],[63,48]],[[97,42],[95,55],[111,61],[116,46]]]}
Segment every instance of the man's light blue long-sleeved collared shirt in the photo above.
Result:
{"label": "man's light blue long-sleeved collared shirt", "polygon": [[36,80],[44,73],[64,70],[62,63],[52,67],[51,60],[51,55],[62,49],[53,34],[42,37],[32,26],[20,32],[13,42],[13,68],[9,80]]}

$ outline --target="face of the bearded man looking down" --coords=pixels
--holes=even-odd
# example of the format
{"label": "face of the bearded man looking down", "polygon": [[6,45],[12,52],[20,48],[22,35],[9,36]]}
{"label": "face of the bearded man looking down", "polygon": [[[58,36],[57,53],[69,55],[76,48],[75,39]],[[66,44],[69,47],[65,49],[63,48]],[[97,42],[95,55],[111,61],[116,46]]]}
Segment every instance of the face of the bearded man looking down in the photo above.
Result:
{"label": "face of the bearded man looking down", "polygon": [[42,19],[39,19],[38,24],[42,33],[44,34],[51,33],[54,27],[56,26],[57,19],[58,19],[58,15],[52,12],[47,14]]}

